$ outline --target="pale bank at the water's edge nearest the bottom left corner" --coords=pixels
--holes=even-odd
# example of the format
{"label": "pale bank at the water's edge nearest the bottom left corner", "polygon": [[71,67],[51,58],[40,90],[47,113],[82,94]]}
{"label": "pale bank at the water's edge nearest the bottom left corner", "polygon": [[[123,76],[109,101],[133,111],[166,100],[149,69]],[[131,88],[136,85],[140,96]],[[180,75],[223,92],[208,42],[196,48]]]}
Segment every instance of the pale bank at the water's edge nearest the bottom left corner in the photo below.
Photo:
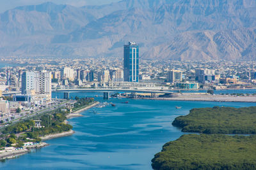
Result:
{"label": "pale bank at the water's edge nearest the bottom left corner", "polygon": [[24,155],[26,153],[28,153],[32,148],[42,148],[44,146],[47,146],[49,144],[41,142],[38,145],[33,145],[33,146],[24,146],[23,149],[21,150],[3,150],[0,152],[0,159],[13,159],[19,155]]}

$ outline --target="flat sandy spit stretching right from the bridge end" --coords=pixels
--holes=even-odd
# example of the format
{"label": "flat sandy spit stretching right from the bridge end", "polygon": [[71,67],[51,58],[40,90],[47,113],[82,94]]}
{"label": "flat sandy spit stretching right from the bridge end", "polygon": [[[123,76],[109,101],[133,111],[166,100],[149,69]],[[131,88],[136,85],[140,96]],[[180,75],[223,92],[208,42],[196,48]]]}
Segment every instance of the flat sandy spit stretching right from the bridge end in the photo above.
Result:
{"label": "flat sandy spit stretching right from the bridge end", "polygon": [[180,97],[157,97],[157,98],[142,98],[149,100],[163,101],[215,101],[215,102],[243,102],[256,103],[256,97],[224,97],[224,96],[180,96]]}

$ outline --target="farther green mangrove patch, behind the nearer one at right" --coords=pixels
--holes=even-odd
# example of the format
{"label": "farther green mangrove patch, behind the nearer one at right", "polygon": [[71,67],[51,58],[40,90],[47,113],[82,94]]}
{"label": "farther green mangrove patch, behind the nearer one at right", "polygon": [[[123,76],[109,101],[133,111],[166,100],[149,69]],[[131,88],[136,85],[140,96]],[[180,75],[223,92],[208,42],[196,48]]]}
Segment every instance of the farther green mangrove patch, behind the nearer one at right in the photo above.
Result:
{"label": "farther green mangrove patch, behind the nearer one at right", "polygon": [[182,132],[205,134],[256,134],[256,107],[196,108],[172,123]]}

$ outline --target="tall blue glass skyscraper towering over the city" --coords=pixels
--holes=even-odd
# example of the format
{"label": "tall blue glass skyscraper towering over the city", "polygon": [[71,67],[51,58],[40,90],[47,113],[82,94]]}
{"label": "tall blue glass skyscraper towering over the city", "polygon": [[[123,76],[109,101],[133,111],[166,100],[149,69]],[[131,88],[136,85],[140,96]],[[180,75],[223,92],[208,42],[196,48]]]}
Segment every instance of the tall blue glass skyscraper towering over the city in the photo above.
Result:
{"label": "tall blue glass skyscraper towering over the city", "polygon": [[124,45],[124,81],[139,81],[139,46],[134,42]]}

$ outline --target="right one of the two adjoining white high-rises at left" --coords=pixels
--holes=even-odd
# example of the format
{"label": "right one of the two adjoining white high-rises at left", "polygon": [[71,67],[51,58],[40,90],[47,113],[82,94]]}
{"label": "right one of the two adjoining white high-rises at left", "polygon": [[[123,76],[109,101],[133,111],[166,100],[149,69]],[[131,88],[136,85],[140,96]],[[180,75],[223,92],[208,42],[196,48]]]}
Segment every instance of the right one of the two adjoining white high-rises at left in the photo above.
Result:
{"label": "right one of the two adjoining white high-rises at left", "polygon": [[45,94],[51,97],[51,72],[40,71],[35,73],[35,92],[36,94]]}

